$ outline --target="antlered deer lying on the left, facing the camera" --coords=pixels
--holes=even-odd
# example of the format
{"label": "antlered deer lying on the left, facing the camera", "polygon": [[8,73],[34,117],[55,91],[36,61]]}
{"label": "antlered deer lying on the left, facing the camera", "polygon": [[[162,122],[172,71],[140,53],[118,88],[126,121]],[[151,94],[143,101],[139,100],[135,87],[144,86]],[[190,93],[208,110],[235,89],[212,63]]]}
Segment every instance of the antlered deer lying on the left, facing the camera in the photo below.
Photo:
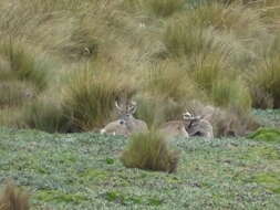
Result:
{"label": "antlered deer lying on the left, facing the camera", "polygon": [[115,101],[115,107],[120,115],[118,119],[108,123],[103,129],[101,129],[101,134],[129,137],[135,133],[148,132],[147,124],[144,120],[134,117],[134,114],[137,111],[136,102],[132,101],[128,104],[126,103],[125,106],[120,106],[117,101]]}

